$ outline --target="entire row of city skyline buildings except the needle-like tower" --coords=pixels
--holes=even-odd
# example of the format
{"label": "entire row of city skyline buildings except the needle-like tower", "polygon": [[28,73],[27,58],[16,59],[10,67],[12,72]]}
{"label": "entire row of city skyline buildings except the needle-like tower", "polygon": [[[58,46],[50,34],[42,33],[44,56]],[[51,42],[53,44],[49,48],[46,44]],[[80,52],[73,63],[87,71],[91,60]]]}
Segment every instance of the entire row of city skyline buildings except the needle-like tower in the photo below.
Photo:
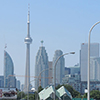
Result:
{"label": "entire row of city skyline buildings except the needle-like tower", "polygon": [[[61,50],[56,50],[52,61],[48,60],[48,54],[42,45],[35,59],[35,89],[54,85],[54,65]],[[88,44],[82,43],[80,50],[80,61],[74,66],[65,67],[65,58],[62,56],[56,65],[56,85],[69,84],[81,94],[87,89],[87,68],[88,68]],[[90,90],[100,90],[100,57],[99,43],[90,45]],[[13,60],[7,51],[4,51],[4,75],[0,76],[0,87],[16,87],[24,91],[24,84],[21,85],[14,76]]]}

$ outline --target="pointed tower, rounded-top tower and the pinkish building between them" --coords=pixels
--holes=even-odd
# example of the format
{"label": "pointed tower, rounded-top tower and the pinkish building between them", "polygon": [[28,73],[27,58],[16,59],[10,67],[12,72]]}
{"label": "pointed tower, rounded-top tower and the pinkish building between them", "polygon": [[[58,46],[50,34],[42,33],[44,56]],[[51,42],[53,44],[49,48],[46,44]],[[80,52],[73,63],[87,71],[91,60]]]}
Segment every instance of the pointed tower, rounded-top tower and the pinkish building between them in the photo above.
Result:
{"label": "pointed tower, rounded-top tower and the pinkish building between them", "polygon": [[[53,82],[54,64],[57,58],[62,54],[63,52],[61,50],[56,50],[53,61],[48,61],[48,55],[46,53],[45,47],[42,45],[39,48],[35,61],[35,76],[37,76],[40,79],[38,81],[35,81],[36,89],[38,86],[42,86],[43,88],[45,88],[48,85],[54,84]],[[61,57],[56,66],[56,84],[62,84],[62,78],[65,75],[64,69],[65,69],[65,61],[64,57]]]}

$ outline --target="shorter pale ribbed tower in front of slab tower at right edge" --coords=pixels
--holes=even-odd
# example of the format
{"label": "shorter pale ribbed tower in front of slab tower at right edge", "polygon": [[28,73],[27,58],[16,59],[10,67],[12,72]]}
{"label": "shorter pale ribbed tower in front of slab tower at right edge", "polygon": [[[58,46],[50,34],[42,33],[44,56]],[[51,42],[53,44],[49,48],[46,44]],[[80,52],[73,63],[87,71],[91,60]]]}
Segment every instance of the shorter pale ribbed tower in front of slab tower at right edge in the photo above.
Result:
{"label": "shorter pale ribbed tower in front of slab tower at right edge", "polygon": [[90,80],[100,81],[100,57],[90,58]]}

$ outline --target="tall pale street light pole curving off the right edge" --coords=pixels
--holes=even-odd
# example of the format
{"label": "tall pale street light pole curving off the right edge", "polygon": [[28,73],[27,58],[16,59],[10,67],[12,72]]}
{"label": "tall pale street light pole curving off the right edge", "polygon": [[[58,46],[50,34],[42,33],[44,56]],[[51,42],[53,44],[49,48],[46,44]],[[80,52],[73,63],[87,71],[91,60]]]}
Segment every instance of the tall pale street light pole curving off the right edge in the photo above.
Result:
{"label": "tall pale street light pole curving off the right edge", "polygon": [[92,29],[99,23],[100,23],[100,21],[95,23],[89,31],[89,38],[88,38],[88,95],[87,95],[88,100],[90,100],[90,36],[91,36]]}

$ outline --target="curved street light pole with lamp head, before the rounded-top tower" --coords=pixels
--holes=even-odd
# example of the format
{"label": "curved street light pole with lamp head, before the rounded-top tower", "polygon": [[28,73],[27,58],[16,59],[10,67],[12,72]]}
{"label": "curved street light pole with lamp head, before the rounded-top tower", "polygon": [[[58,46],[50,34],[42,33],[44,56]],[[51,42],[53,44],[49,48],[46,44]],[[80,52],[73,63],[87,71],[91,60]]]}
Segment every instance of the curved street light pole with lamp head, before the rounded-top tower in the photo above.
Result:
{"label": "curved street light pole with lamp head, before the rounded-top tower", "polygon": [[57,65],[58,60],[59,60],[61,57],[65,56],[65,55],[68,55],[68,54],[75,54],[75,52],[69,52],[69,53],[65,53],[65,54],[59,56],[59,57],[57,58],[56,62],[55,62],[55,65],[54,65],[54,100],[56,100],[56,89],[55,89],[55,87],[56,87],[56,65]]}

